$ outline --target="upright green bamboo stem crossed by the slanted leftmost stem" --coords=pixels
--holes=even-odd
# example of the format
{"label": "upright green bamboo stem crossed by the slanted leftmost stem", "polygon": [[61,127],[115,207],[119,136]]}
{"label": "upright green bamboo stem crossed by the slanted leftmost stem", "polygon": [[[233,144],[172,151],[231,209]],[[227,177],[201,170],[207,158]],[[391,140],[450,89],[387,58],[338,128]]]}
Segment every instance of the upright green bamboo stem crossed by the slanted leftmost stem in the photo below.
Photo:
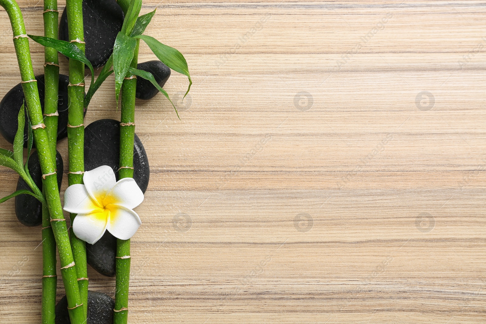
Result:
{"label": "upright green bamboo stem crossed by the slanted leftmost stem", "polygon": [[[57,0],[44,0],[44,36],[57,39]],[[57,143],[57,101],[59,88],[59,60],[57,51],[44,48],[44,123],[51,147],[52,163],[56,164]],[[61,170],[62,171],[62,170]],[[46,188],[43,188],[45,193]],[[52,233],[51,219],[47,206],[42,206],[42,324],[55,323],[57,290],[56,242]]]}

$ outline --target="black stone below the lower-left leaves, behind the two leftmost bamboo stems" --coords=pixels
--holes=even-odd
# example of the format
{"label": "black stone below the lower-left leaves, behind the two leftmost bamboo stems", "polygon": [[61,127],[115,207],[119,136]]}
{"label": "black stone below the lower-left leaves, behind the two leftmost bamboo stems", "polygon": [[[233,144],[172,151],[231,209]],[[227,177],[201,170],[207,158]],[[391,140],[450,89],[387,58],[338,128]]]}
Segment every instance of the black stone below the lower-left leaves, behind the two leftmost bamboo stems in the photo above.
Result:
{"label": "black stone below the lower-left leaves, behind the two leftmost bamboo stems", "polygon": [[[59,152],[56,153],[57,165],[57,186],[61,189],[62,175],[64,164],[62,156]],[[31,154],[28,162],[29,173],[34,180],[35,185],[42,190],[42,171],[40,170],[39,156],[37,151]],[[21,177],[18,177],[17,190],[31,188]],[[15,214],[19,222],[25,226],[37,226],[42,223],[42,204],[33,196],[28,194],[21,194],[15,197]]]}

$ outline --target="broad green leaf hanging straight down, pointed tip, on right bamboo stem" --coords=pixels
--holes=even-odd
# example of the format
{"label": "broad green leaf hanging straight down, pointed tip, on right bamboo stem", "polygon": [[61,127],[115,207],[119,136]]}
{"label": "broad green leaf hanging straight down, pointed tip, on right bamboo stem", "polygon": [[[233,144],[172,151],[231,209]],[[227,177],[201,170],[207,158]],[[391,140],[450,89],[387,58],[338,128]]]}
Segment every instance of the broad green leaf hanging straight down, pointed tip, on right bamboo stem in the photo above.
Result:
{"label": "broad green leaf hanging straight down, pointed tip, on right bamboo stem", "polygon": [[123,78],[130,68],[137,40],[119,32],[113,46],[113,70],[115,71],[115,98],[118,107],[118,96],[120,95]]}

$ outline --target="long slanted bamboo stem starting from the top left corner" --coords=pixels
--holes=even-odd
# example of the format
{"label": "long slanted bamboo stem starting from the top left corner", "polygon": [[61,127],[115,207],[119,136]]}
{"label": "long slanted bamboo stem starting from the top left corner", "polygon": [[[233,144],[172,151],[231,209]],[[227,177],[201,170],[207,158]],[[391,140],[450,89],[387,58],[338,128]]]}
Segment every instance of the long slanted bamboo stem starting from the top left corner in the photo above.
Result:
{"label": "long slanted bamboo stem starting from the top left corner", "polygon": [[40,107],[37,83],[30,55],[29,40],[25,32],[22,13],[15,0],[0,0],[0,5],[5,8],[10,18],[14,34],[14,46],[17,53],[18,67],[22,79],[22,89],[27,102],[27,111],[32,123],[35,146],[39,156],[40,168],[44,174],[43,185],[46,188],[45,196],[51,216],[51,226],[59,251],[61,261],[61,274],[68,299],[69,317],[72,324],[84,324],[86,321],[83,312],[79,286],[77,284],[76,265],[69,244],[68,229],[63,216],[61,200],[57,187],[55,173],[55,156],[49,144],[49,137],[45,129],[42,110]]}

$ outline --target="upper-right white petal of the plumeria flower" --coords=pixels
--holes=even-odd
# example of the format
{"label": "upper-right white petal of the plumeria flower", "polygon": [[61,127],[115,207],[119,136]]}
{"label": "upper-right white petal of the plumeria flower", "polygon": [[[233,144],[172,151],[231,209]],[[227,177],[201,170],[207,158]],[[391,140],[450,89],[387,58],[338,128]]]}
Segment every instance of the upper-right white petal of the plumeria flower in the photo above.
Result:
{"label": "upper-right white petal of the plumeria flower", "polygon": [[120,179],[106,195],[103,205],[116,204],[133,209],[143,201],[143,192],[133,178]]}

